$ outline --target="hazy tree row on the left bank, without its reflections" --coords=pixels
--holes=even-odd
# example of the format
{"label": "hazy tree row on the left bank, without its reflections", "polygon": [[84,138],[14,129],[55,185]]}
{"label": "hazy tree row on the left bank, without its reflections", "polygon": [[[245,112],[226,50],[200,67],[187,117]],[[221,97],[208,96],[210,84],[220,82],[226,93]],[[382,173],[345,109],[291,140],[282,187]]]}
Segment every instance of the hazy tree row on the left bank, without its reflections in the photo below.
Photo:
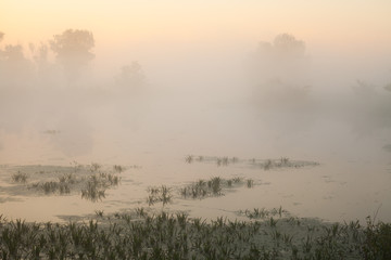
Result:
{"label": "hazy tree row on the left bank, without its reflections", "polygon": [[[94,58],[94,38],[91,31],[67,29],[48,42],[2,44],[0,32],[0,82],[3,87],[73,87],[88,81],[89,65]],[[139,88],[144,83],[141,65],[133,61],[113,75],[108,83]]]}

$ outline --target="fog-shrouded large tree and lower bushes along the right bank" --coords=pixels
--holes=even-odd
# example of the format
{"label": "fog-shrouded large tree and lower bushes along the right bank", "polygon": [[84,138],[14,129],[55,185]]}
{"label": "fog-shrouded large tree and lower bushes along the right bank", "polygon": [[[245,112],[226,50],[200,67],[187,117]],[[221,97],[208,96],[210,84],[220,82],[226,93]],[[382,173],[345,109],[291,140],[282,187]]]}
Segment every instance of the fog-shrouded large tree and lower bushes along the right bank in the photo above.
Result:
{"label": "fog-shrouded large tree and lower bushes along the right bank", "polygon": [[[390,130],[391,74],[390,81],[381,86],[360,79],[361,75],[352,78],[350,86],[325,86],[314,72],[329,72],[318,70],[306,53],[305,42],[294,36],[281,34],[272,42],[261,41],[247,68],[253,86],[251,100],[270,112],[273,120],[283,121],[280,127],[290,129],[298,126],[305,129],[330,119],[349,123],[352,133],[358,136]],[[341,78],[335,77],[335,82]]]}

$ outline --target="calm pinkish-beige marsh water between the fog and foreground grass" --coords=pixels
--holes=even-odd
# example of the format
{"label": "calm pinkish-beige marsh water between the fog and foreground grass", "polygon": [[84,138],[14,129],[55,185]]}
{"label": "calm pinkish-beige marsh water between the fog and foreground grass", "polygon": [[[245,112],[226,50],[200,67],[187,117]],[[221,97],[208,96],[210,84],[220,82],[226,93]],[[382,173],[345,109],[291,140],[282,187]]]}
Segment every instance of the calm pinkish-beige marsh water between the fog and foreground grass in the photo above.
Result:
{"label": "calm pinkish-beige marsh water between the fog and foreground grass", "polygon": [[[186,101],[150,103],[142,113],[128,109],[121,117],[125,103],[86,106],[83,113],[62,115],[62,120],[49,117],[38,127],[30,122],[17,131],[0,130],[0,213],[8,219],[67,221],[97,210],[164,207],[194,217],[235,219],[241,218],[240,210],[281,206],[293,216],[327,221],[364,221],[376,211],[378,220],[391,221],[391,160],[382,148],[389,142],[388,129],[357,136],[346,122],[305,118],[313,118],[311,114],[281,117],[241,104],[207,103],[207,108],[195,109],[199,106]],[[290,127],[297,120],[304,126]],[[188,164],[188,155],[235,156],[239,161]],[[281,157],[318,165],[265,170],[249,164]],[[28,188],[39,178],[58,180],[59,171],[72,172],[75,164],[88,169],[91,162],[101,165],[102,172],[113,172],[114,165],[126,168],[117,174],[119,184],[105,188],[101,200],[83,198],[81,187],[63,195]],[[27,172],[27,183],[12,181],[17,171]],[[244,183],[224,190],[224,196],[180,196],[181,187],[213,177],[241,178]],[[245,180],[254,185],[247,187]],[[148,188],[161,185],[172,190],[172,203],[149,205]]]}

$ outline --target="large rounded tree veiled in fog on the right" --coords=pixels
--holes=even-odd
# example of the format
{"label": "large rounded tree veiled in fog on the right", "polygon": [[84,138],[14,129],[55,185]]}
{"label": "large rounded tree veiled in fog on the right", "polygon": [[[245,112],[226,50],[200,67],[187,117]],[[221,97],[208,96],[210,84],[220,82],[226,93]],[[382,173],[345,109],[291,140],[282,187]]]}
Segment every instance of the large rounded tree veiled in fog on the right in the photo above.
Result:
{"label": "large rounded tree veiled in fog on the right", "polygon": [[256,91],[272,103],[302,103],[310,91],[305,43],[289,34],[261,41],[251,56],[250,73]]}

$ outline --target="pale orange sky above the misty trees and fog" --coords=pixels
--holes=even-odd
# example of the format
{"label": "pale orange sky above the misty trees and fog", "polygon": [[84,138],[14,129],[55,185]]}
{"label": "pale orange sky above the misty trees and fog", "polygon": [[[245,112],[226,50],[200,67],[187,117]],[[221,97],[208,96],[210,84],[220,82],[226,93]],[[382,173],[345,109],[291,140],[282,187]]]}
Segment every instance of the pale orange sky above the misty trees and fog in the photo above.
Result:
{"label": "pale orange sky above the misty trees and fog", "polygon": [[379,70],[375,65],[390,69],[390,0],[2,0],[0,31],[1,44],[20,43],[28,52],[29,42],[47,42],[65,29],[90,30],[96,69],[108,75],[130,61],[152,74],[178,61],[174,56],[238,63],[258,41],[288,32],[323,64],[362,66],[354,75]]}

